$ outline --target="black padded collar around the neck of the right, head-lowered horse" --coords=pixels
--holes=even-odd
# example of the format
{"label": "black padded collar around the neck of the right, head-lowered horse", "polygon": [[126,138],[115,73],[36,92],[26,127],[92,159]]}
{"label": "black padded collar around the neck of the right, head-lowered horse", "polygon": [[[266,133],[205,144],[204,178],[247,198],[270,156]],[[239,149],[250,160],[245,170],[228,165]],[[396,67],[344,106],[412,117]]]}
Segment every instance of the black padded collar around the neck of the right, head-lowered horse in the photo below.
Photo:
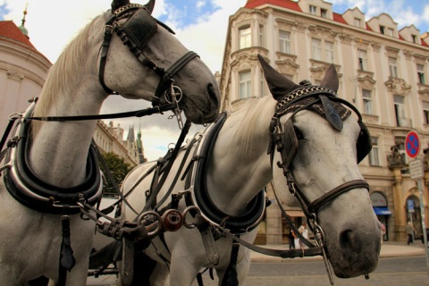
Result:
{"label": "black padded collar around the neck of the right, head-lowered horse", "polygon": [[206,181],[208,159],[226,117],[226,114],[221,114],[216,122],[207,127],[206,136],[203,136],[198,142],[196,154],[194,154],[194,157],[198,157],[198,161],[187,176],[186,189],[191,189],[191,191],[186,193],[185,200],[187,206],[197,206],[201,215],[209,223],[221,225],[232,233],[239,234],[253,230],[262,220],[265,213],[265,190],[261,190],[252,199],[245,213],[240,216],[223,213],[210,198]]}

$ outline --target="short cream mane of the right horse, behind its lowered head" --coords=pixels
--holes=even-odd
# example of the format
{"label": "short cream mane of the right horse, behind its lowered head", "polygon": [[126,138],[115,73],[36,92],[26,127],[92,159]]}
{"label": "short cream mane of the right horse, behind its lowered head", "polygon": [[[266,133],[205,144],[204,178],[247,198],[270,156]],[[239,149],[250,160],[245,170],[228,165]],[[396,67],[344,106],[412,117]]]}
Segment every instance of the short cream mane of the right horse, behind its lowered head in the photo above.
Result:
{"label": "short cream mane of the right horse, behind its lowered head", "polygon": [[268,127],[275,104],[276,101],[271,96],[252,98],[238,111],[230,114],[242,117],[235,127],[237,131],[231,142],[232,146],[240,146],[240,157],[245,157],[251,151],[254,142],[269,138]]}

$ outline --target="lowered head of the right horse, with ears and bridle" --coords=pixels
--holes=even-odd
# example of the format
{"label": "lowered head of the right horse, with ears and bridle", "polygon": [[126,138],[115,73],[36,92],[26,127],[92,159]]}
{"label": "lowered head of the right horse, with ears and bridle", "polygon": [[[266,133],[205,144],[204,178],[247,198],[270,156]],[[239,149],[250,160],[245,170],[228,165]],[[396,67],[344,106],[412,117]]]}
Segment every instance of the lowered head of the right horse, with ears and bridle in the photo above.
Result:
{"label": "lowered head of the right horse, with ears and bridle", "polygon": [[[280,152],[273,151],[275,189],[287,205],[301,206],[338,277],[373,272],[381,231],[369,186],[357,167],[371,149],[361,115],[336,96],[339,83],[333,65],[321,86],[314,87],[309,82],[296,84],[262,56],[259,60],[278,101],[274,117],[281,131],[273,131],[280,142],[276,146]],[[281,193],[285,186],[290,191]]]}

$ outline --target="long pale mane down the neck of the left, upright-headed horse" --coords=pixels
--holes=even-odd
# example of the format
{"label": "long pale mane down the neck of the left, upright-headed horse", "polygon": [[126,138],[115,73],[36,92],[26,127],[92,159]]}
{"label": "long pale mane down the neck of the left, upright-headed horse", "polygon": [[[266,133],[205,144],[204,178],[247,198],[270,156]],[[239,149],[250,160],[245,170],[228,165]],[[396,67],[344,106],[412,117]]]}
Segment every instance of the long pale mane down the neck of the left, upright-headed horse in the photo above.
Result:
{"label": "long pale mane down the neck of the left, upright-headed horse", "polygon": [[[55,102],[55,97],[64,94],[66,90],[71,90],[75,83],[76,75],[82,72],[82,68],[87,66],[88,60],[88,35],[97,16],[88,25],[80,30],[75,38],[64,47],[63,53],[58,57],[56,63],[51,67],[46,76],[45,84],[40,92],[38,104],[34,110],[34,116],[47,116],[51,105]],[[101,31],[100,31],[101,35]],[[67,94],[67,96],[72,96]]]}

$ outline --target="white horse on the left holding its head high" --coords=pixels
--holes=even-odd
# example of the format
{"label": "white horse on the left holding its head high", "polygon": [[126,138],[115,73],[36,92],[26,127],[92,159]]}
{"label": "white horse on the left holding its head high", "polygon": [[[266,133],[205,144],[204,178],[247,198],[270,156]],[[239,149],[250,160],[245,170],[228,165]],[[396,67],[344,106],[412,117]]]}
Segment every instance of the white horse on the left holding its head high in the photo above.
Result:
{"label": "white horse on the left holding its head high", "polygon": [[[154,0],[144,6],[114,0],[112,10],[90,21],[52,67],[38,102],[33,104],[32,116],[98,114],[103,101],[114,90],[122,97],[149,101],[156,94],[159,96],[156,105],[159,102],[163,106],[166,100],[172,101],[172,105],[184,110],[190,121],[213,122],[219,110],[220,93],[216,80],[195,53],[189,53],[172,36],[168,27],[150,15],[154,4]],[[169,93],[172,88],[170,76],[174,80],[173,94]],[[176,86],[182,91],[179,96]],[[166,99],[164,90],[167,90]],[[175,101],[174,96],[177,96]],[[91,180],[94,180],[88,179],[89,173],[97,178],[89,186],[92,193],[88,198],[84,194],[76,203],[94,204],[99,199],[99,170],[94,168],[94,162],[92,167],[88,164],[88,149],[96,123],[96,120],[20,122],[20,133],[16,134],[20,137],[15,137],[10,141],[12,145],[9,144],[12,155],[6,156],[8,160],[0,165],[2,172],[7,172],[2,177],[11,180],[8,185],[13,185],[14,181],[16,189],[20,189],[24,180],[17,169],[25,165],[23,168],[31,170],[30,177],[36,178],[29,185],[39,184],[42,192],[44,186],[51,186],[54,190],[51,191],[52,197],[42,198],[27,185],[23,187],[27,188],[23,195],[14,195],[19,202],[8,192],[4,183],[7,180],[2,178],[0,284],[22,285],[41,275],[58,282],[60,248],[63,248],[65,252],[69,251],[63,258],[72,260],[71,249],[75,258],[72,268],[72,261],[69,264],[65,262],[71,268],[66,275],[66,285],[85,285],[95,223],[82,220],[80,214],[76,214],[78,205],[74,204],[74,208],[66,206],[70,202],[63,207],[59,205],[63,204],[62,198],[68,196],[62,192],[92,184]],[[23,133],[29,129],[30,133]],[[21,147],[23,152],[20,153],[20,145],[24,142],[26,147]],[[83,190],[76,191],[82,194]],[[36,210],[32,207],[33,199],[38,201],[34,207]],[[48,213],[43,212],[44,208]],[[77,212],[68,217],[62,215],[71,209],[77,209]],[[67,233],[62,247],[62,218],[67,222],[70,218],[71,248],[67,245],[70,242]],[[67,222],[64,224],[65,232]]]}

